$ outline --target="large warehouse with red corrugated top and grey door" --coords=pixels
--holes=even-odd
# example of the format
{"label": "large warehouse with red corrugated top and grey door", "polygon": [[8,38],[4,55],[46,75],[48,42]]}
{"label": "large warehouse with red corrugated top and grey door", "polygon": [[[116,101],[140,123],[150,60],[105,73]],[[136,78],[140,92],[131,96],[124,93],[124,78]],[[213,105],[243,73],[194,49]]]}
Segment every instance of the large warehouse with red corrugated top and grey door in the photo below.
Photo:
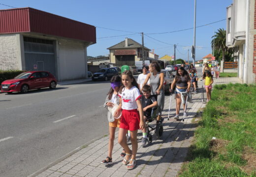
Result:
{"label": "large warehouse with red corrugated top and grey door", "polygon": [[0,70],[46,70],[58,81],[87,78],[96,28],[41,10],[0,10]]}

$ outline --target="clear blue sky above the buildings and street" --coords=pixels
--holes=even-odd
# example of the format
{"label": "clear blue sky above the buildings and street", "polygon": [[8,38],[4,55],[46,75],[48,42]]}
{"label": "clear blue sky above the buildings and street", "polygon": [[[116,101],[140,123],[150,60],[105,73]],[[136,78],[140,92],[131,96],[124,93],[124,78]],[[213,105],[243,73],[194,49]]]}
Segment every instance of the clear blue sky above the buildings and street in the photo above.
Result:
{"label": "clear blue sky above the buildings and street", "polygon": [[[196,0],[196,26],[224,21],[196,28],[195,60],[212,53],[211,37],[214,31],[226,29],[226,7],[231,3]],[[160,57],[173,56],[176,44],[176,59],[188,60],[190,50],[192,60],[194,0],[0,0],[0,9],[8,9],[1,4],[32,7],[95,26],[96,44],[87,48],[88,56],[107,55],[108,47],[126,37],[141,44],[143,32],[144,46]],[[168,33],[152,34],[161,32]]]}

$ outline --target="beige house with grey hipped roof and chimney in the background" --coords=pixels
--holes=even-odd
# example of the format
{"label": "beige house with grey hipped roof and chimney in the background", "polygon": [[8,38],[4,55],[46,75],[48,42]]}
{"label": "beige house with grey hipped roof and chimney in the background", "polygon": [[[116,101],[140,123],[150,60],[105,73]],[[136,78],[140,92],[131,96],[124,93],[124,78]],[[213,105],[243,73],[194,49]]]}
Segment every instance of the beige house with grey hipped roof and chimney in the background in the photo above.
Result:
{"label": "beige house with grey hipped roof and chimney in the background", "polygon": [[[110,62],[116,66],[129,65],[135,66],[135,61],[142,59],[142,45],[133,39],[126,38],[124,41],[107,48],[110,53]],[[144,46],[144,59],[149,60],[149,51]]]}

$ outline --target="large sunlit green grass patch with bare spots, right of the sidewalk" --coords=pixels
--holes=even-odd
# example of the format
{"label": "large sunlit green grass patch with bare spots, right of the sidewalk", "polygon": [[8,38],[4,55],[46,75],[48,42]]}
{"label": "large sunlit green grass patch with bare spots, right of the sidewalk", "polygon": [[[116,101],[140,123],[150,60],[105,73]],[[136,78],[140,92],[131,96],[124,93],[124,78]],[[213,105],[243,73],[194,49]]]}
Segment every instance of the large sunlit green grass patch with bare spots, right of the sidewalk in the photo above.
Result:
{"label": "large sunlit green grass patch with bare spots, right of the sidewalk", "polygon": [[255,85],[216,85],[198,124],[180,177],[256,177]]}

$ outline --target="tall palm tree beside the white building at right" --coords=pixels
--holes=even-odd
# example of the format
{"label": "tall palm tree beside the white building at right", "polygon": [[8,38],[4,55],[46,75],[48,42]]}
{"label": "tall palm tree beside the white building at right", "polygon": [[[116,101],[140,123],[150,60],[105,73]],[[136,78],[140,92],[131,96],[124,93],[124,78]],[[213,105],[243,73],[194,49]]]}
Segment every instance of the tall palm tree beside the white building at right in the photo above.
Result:
{"label": "tall palm tree beside the white building at right", "polygon": [[[233,53],[232,49],[228,49],[228,47],[226,46],[226,30],[225,29],[218,29],[218,32],[215,32],[215,35],[212,36],[212,49],[214,46],[215,51],[217,51],[217,53],[215,53],[217,55],[219,55],[222,58],[222,61],[224,62],[226,59],[231,59],[231,55]],[[223,72],[223,66],[221,66],[222,68],[222,72]]]}

